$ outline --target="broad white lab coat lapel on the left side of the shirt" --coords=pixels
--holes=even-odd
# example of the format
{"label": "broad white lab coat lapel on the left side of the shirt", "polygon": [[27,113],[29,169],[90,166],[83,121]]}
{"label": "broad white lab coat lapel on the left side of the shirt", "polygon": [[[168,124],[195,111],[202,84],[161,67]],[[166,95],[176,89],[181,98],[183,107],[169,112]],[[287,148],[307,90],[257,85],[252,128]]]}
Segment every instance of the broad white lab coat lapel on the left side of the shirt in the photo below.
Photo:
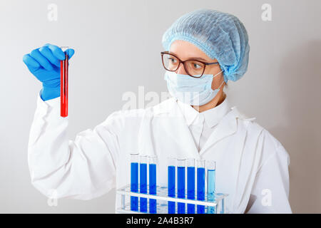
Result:
{"label": "broad white lab coat lapel on the left side of the shirt", "polygon": [[173,98],[156,105],[151,112],[146,111],[143,117],[138,137],[139,151],[143,154],[161,154],[163,151],[158,151],[160,143],[168,143],[175,151],[167,152],[176,157],[200,158],[183,113]]}

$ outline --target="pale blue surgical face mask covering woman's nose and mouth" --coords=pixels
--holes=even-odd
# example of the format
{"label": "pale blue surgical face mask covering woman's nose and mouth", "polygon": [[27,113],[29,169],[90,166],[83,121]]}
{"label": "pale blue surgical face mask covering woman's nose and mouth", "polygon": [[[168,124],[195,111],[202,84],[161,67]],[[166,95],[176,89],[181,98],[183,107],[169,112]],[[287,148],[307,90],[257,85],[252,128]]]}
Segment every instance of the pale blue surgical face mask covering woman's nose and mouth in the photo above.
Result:
{"label": "pale blue surgical face mask covering woman's nose and mouth", "polygon": [[212,81],[215,76],[203,74],[200,78],[193,78],[174,71],[166,71],[165,81],[167,81],[168,92],[174,98],[189,105],[205,105],[215,98],[224,83],[223,81],[219,88],[213,90]]}

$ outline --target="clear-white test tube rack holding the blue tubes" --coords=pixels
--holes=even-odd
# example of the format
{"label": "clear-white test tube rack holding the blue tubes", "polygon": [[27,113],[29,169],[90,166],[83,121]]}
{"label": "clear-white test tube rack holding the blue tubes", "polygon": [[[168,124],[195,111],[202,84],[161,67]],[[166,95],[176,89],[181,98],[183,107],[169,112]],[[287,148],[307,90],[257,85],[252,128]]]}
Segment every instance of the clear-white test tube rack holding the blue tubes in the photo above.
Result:
{"label": "clear-white test tube rack holding the blue tubes", "polygon": [[[149,190],[149,186],[148,190]],[[149,192],[149,191],[148,191]],[[178,198],[178,197],[168,197],[168,188],[157,186],[157,192],[156,195],[150,195],[146,193],[140,193],[138,192],[131,192],[131,185],[126,185],[124,187],[119,188],[116,190],[116,194],[120,195],[121,197],[121,206],[116,209],[116,213],[122,213],[122,214],[150,214],[149,210],[147,212],[141,212],[138,204],[138,210],[132,211],[131,210],[131,197],[138,197],[140,199],[141,197],[147,198],[147,204],[149,202],[149,199],[156,199],[156,209],[157,214],[168,214],[168,202],[175,202],[177,204],[185,203],[185,204],[194,204],[195,205],[195,214],[196,214],[196,207],[197,205],[202,205],[205,207],[205,214],[210,213],[208,208],[214,207],[215,208],[215,214],[226,214],[225,209],[225,198],[228,196],[228,194],[223,193],[216,193],[214,200],[207,200],[208,197],[205,193],[205,200],[197,200],[196,195],[195,199],[187,199],[187,195],[185,196],[185,199]],[[177,194],[176,194],[177,195]],[[149,208],[149,205],[147,205],[147,208]],[[177,205],[175,207],[175,213],[178,213]]]}

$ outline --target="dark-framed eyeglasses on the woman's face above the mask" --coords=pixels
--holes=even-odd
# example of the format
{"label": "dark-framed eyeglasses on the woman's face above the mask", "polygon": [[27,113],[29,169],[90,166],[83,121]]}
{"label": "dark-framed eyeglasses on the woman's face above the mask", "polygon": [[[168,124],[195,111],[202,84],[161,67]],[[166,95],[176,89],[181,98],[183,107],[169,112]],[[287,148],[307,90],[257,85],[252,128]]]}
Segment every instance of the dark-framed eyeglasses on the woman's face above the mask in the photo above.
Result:
{"label": "dark-framed eyeglasses on the woman's face above the mask", "polygon": [[188,59],[185,61],[181,61],[180,58],[178,58],[172,53],[169,53],[168,51],[162,51],[161,57],[163,66],[166,71],[177,71],[178,67],[180,66],[180,63],[183,63],[185,72],[193,78],[202,77],[206,66],[218,64],[218,62],[206,63],[197,59]]}

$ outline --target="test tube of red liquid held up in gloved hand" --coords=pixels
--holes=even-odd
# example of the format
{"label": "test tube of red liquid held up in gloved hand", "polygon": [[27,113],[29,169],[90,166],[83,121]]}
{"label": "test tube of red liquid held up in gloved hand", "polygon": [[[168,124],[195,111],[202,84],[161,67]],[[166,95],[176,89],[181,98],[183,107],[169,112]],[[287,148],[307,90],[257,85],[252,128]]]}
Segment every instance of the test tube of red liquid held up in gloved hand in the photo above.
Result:
{"label": "test tube of red liquid held up in gloved hand", "polygon": [[60,61],[60,115],[68,116],[68,55],[66,50],[68,46],[61,47],[66,58]]}

